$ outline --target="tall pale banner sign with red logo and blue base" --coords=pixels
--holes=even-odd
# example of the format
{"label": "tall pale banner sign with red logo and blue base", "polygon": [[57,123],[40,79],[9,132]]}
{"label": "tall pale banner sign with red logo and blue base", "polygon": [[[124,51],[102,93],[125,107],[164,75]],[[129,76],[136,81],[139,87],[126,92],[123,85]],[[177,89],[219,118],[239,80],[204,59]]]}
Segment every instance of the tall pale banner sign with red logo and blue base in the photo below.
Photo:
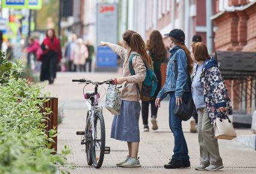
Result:
{"label": "tall pale banner sign with red logo and blue base", "polygon": [[[97,4],[96,44],[117,43],[117,4]],[[117,55],[109,47],[97,47],[97,67],[117,67]]]}

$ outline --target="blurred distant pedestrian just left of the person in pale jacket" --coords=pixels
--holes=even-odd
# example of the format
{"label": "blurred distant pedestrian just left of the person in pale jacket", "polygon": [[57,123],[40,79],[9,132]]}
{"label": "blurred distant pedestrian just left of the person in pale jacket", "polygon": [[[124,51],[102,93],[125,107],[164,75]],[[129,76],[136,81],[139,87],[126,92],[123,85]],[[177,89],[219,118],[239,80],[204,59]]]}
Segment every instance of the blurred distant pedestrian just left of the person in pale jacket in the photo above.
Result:
{"label": "blurred distant pedestrian just left of the person in pale jacket", "polygon": [[67,71],[74,71],[74,67],[73,67],[73,60],[71,59],[71,54],[73,52],[73,49],[76,45],[76,40],[77,40],[77,36],[76,34],[72,34],[72,40],[67,43],[66,49],[65,49],[65,53],[64,56],[67,60]]}

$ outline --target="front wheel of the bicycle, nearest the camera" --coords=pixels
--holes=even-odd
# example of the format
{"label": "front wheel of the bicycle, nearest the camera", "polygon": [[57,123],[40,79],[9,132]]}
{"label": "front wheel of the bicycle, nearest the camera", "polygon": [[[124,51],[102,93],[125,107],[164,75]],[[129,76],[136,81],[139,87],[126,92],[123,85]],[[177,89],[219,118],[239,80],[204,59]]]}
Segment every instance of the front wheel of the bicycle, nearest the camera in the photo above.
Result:
{"label": "front wheel of the bicycle, nearest the camera", "polygon": [[101,112],[95,113],[95,141],[92,145],[93,166],[99,169],[102,166],[105,152],[105,123]]}

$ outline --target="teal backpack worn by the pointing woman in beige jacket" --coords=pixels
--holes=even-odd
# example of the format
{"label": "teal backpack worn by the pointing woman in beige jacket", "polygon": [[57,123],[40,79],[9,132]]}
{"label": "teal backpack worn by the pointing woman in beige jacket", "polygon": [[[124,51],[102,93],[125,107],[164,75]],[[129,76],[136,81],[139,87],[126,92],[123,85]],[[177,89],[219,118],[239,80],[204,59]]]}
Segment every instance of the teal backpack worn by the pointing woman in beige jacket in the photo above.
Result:
{"label": "teal backpack worn by the pointing woman in beige jacket", "polygon": [[[133,58],[134,56],[139,56],[137,54],[131,54],[129,58],[129,70],[132,76],[135,75],[135,71],[133,68]],[[145,62],[144,62],[145,64]],[[154,98],[155,91],[157,91],[157,76],[155,76],[155,72],[151,67],[146,67],[146,77],[145,80],[142,82],[142,90],[140,91],[138,83],[136,84],[137,90],[140,93],[140,99],[143,101],[149,101]]]}

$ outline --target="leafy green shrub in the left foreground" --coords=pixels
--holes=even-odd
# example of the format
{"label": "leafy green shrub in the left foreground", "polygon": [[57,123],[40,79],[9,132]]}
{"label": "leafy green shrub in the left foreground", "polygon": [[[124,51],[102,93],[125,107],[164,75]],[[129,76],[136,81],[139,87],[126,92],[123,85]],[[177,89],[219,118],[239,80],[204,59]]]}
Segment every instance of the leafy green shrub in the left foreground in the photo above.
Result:
{"label": "leafy green shrub in the left foreground", "polygon": [[0,173],[55,173],[69,149],[52,155],[49,142],[56,131],[48,137],[42,124],[41,89],[20,78],[20,70],[0,56]]}

